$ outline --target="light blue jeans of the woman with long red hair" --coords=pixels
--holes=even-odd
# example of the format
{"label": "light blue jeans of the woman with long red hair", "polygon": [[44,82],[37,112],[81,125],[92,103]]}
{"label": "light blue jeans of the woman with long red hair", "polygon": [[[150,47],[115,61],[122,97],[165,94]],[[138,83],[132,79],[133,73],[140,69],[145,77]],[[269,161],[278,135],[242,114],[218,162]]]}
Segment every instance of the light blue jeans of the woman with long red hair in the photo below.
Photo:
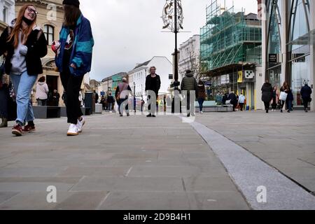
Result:
{"label": "light blue jeans of the woman with long red hair", "polygon": [[16,122],[24,124],[25,122],[34,121],[34,112],[29,95],[37,80],[37,76],[29,76],[27,71],[25,71],[21,75],[10,75],[10,78],[16,94],[16,103],[18,104],[18,118]]}

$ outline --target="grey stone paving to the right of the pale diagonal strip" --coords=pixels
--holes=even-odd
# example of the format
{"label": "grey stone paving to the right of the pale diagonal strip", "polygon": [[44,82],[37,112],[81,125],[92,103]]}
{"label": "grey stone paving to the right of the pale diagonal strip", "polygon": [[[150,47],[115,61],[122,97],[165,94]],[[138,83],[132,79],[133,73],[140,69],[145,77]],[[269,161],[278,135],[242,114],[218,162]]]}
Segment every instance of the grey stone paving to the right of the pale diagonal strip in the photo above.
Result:
{"label": "grey stone paving to the right of the pale diagonal strip", "polygon": [[315,113],[205,113],[196,121],[315,193]]}

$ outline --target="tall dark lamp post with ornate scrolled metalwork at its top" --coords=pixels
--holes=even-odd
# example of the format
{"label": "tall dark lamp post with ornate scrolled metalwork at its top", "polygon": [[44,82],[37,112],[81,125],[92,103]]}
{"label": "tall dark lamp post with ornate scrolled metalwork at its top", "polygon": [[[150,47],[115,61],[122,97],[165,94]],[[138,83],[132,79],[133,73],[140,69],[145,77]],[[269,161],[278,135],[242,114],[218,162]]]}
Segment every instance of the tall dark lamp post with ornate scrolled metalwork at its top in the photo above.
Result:
{"label": "tall dark lamp post with ornate scrolled metalwork at its top", "polygon": [[[175,34],[174,50],[174,90],[179,90],[179,58],[177,50],[177,34],[183,29],[183,7],[181,0],[166,0],[162,12],[163,29],[170,29]],[[174,113],[174,100],[172,103],[172,113]]]}

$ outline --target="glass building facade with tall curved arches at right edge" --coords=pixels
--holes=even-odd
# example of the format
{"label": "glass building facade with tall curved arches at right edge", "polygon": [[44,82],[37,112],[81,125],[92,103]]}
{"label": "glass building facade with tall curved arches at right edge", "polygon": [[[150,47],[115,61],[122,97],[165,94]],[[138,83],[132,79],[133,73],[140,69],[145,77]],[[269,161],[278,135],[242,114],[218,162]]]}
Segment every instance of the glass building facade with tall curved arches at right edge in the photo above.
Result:
{"label": "glass building facade with tall curved arches at right edge", "polygon": [[314,7],[309,0],[265,0],[265,76],[278,87],[288,81],[297,107],[304,83],[314,85]]}

